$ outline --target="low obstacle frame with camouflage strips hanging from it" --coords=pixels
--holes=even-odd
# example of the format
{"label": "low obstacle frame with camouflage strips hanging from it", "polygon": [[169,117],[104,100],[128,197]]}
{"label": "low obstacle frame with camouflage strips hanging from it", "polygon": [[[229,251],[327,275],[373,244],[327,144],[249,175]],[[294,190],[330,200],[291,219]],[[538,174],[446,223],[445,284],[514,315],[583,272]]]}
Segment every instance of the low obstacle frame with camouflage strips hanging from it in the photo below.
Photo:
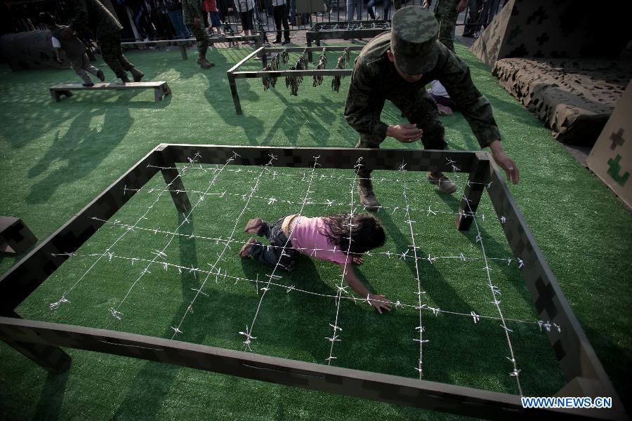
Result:
{"label": "low obstacle frame with camouflage strips hanging from it", "polygon": [[[364,46],[332,46],[327,48],[322,47],[289,47],[289,48],[269,48],[269,47],[260,47],[255,51],[246,55],[241,61],[239,61],[235,66],[231,67],[228,72],[226,72],[228,76],[228,84],[230,85],[230,93],[232,93],[232,100],[235,102],[235,112],[237,115],[243,114],[242,112],[242,104],[239,101],[239,93],[237,92],[237,83],[235,83],[236,79],[251,79],[251,78],[261,78],[263,79],[263,88],[268,90],[270,87],[274,87],[276,83],[276,79],[279,76],[286,77],[286,86],[291,90],[291,95],[296,95],[298,92],[298,84],[303,81],[303,76],[313,76],[315,82],[314,86],[320,85],[322,83],[322,76],[334,76],[334,80],[332,80],[331,88],[338,92],[338,88],[340,87],[340,79],[343,76],[349,76],[353,69],[345,69],[346,65],[350,61],[350,53],[351,51],[360,51]],[[338,64],[335,69],[325,69],[322,64],[322,60],[319,60],[318,63],[313,63],[315,65],[315,69],[308,69],[308,57],[309,54],[313,51],[322,51],[321,59],[323,55],[330,52],[338,52],[341,53],[341,57],[338,58]],[[279,60],[281,62],[289,62],[289,53],[302,53],[296,62],[295,66],[290,67],[289,69],[280,70],[275,69],[278,68]],[[270,61],[270,66],[268,65],[268,57],[269,55],[275,55]],[[252,58],[261,58],[261,70],[256,71],[248,71],[248,72],[239,72],[238,69],[245,62],[251,60]],[[326,64],[327,60],[325,60]]]}

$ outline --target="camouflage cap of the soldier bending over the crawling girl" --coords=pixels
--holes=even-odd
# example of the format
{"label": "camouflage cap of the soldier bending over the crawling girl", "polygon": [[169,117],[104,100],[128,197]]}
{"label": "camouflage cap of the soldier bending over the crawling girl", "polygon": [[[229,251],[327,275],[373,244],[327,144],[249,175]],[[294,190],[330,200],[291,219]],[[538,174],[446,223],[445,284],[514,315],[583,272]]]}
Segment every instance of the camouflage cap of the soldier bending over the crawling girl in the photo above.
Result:
{"label": "camouflage cap of the soldier bending over the crawling girl", "polygon": [[406,74],[432,70],[438,57],[439,23],[432,12],[421,6],[407,6],[393,14],[390,51],[395,65]]}

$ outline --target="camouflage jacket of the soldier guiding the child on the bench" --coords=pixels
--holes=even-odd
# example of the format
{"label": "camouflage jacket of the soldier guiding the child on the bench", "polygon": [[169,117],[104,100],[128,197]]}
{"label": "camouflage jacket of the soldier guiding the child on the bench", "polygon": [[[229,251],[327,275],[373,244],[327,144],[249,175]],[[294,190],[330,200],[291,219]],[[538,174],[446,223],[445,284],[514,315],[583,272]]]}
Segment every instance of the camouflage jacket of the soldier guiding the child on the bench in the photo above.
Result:
{"label": "camouflage jacket of the soldier guiding the child on the bench", "polygon": [[73,11],[70,27],[77,32],[93,31],[97,39],[119,32],[123,27],[99,0],[68,0]]}

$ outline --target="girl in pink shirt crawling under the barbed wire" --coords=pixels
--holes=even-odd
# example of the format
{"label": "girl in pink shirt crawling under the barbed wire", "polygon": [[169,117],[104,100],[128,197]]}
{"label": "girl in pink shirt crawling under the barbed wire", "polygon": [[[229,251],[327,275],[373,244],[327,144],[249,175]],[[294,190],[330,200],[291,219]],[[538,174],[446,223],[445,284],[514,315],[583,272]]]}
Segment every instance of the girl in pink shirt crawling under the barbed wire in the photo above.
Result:
{"label": "girl in pink shirt crawling under the barbed wire", "polygon": [[339,213],[306,218],[294,214],[284,216],[274,225],[254,218],[248,221],[244,232],[265,236],[270,246],[251,238],[239,250],[239,257],[252,256],[259,262],[272,267],[278,265],[288,272],[294,269],[299,253],[336,263],[357,295],[367,298],[380,314],[383,309],[390,311],[390,300],[383,295],[371,294],[355,276],[352,265],[362,265],[361,254],[384,244],[384,229],[373,215],[357,213],[350,217],[348,213]]}

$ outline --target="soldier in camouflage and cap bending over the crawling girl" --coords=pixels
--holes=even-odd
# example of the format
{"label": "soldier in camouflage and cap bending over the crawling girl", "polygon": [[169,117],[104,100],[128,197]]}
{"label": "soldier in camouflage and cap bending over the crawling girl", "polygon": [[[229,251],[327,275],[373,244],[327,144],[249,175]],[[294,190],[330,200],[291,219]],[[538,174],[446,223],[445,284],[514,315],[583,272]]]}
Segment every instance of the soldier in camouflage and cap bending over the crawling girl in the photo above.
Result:
{"label": "soldier in camouflage and cap bending over the crawling girl", "polygon": [[[459,106],[480,147],[489,147],[507,178],[518,183],[518,167],[503,151],[491,105],[472,83],[468,66],[437,42],[438,26],[433,14],[421,6],[401,8],[393,15],[391,32],[376,36],[362,48],[345,102],[345,119],[360,133],[356,147],[377,148],[390,136],[403,143],[421,139],[424,149],[446,149],[437,105],[425,89],[426,83],[438,80]],[[410,124],[383,123],[380,116],[386,100]],[[359,168],[357,175],[360,201],[367,210],[378,209],[371,169]],[[442,192],[456,191],[454,182],[442,173],[428,173],[428,181]]]}

